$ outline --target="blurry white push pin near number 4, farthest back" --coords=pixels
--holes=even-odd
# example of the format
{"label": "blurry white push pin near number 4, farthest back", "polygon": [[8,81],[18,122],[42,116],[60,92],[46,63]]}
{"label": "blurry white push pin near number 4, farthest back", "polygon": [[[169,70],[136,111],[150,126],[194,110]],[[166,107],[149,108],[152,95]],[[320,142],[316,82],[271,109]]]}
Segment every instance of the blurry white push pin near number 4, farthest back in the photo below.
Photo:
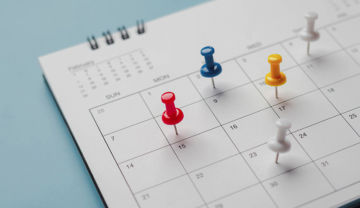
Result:
{"label": "blurry white push pin near number 4, farthest back", "polygon": [[317,19],[317,13],[307,12],[305,14],[306,27],[299,33],[300,39],[307,42],[307,55],[309,55],[310,42],[319,39],[319,32],[314,30],[315,19]]}

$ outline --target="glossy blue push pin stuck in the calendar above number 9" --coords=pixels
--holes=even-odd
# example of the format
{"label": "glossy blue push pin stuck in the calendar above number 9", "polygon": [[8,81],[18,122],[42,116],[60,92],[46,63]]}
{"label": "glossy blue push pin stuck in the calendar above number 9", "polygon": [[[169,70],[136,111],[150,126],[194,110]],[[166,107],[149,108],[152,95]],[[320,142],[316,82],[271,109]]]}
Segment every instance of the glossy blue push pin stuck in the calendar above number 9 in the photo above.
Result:
{"label": "glossy blue push pin stuck in the calendar above number 9", "polygon": [[215,49],[211,46],[207,46],[201,49],[200,53],[205,57],[205,65],[201,67],[200,73],[204,77],[211,77],[213,87],[215,88],[213,77],[219,75],[222,71],[221,66],[214,62],[213,54],[215,53]]}

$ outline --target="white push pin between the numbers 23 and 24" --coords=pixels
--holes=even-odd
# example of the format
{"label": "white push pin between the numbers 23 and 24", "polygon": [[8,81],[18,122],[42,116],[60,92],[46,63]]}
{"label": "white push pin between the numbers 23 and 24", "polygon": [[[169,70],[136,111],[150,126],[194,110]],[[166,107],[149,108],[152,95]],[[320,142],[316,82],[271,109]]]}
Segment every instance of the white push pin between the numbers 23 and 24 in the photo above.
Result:
{"label": "white push pin between the numbers 23 and 24", "polygon": [[287,152],[291,147],[290,141],[286,139],[286,132],[291,127],[291,123],[286,119],[279,119],[276,126],[278,131],[274,137],[269,139],[268,147],[276,152],[275,163],[278,163],[279,153]]}

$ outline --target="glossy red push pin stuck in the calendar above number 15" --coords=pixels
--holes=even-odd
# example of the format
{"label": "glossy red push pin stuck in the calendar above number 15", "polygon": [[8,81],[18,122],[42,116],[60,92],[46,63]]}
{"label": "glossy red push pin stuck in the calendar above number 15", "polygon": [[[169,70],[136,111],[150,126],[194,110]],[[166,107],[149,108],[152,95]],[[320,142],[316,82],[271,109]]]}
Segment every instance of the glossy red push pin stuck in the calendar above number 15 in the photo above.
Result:
{"label": "glossy red push pin stuck in the calendar above number 15", "polygon": [[176,124],[183,120],[184,114],[180,109],[175,108],[175,94],[165,92],[161,95],[161,101],[165,103],[166,107],[166,111],[161,116],[162,122],[167,125],[174,125],[175,133],[177,134]]}

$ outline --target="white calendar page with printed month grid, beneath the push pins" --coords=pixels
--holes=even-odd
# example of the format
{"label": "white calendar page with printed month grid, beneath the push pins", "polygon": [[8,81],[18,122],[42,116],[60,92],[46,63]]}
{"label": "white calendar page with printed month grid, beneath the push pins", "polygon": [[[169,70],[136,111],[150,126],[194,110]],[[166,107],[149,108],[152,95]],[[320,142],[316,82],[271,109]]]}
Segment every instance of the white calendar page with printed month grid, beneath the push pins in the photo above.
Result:
{"label": "white calendar page with printed month grid, beneath the push pins", "polygon": [[[309,56],[307,11],[320,33]],[[359,25],[359,0],[217,0],[40,64],[108,207],[337,207],[360,197]],[[216,88],[200,75],[204,46],[223,69]],[[288,79],[279,98],[264,82],[271,54]],[[179,135],[161,121],[167,91]],[[291,149],[276,164],[279,118]]]}

